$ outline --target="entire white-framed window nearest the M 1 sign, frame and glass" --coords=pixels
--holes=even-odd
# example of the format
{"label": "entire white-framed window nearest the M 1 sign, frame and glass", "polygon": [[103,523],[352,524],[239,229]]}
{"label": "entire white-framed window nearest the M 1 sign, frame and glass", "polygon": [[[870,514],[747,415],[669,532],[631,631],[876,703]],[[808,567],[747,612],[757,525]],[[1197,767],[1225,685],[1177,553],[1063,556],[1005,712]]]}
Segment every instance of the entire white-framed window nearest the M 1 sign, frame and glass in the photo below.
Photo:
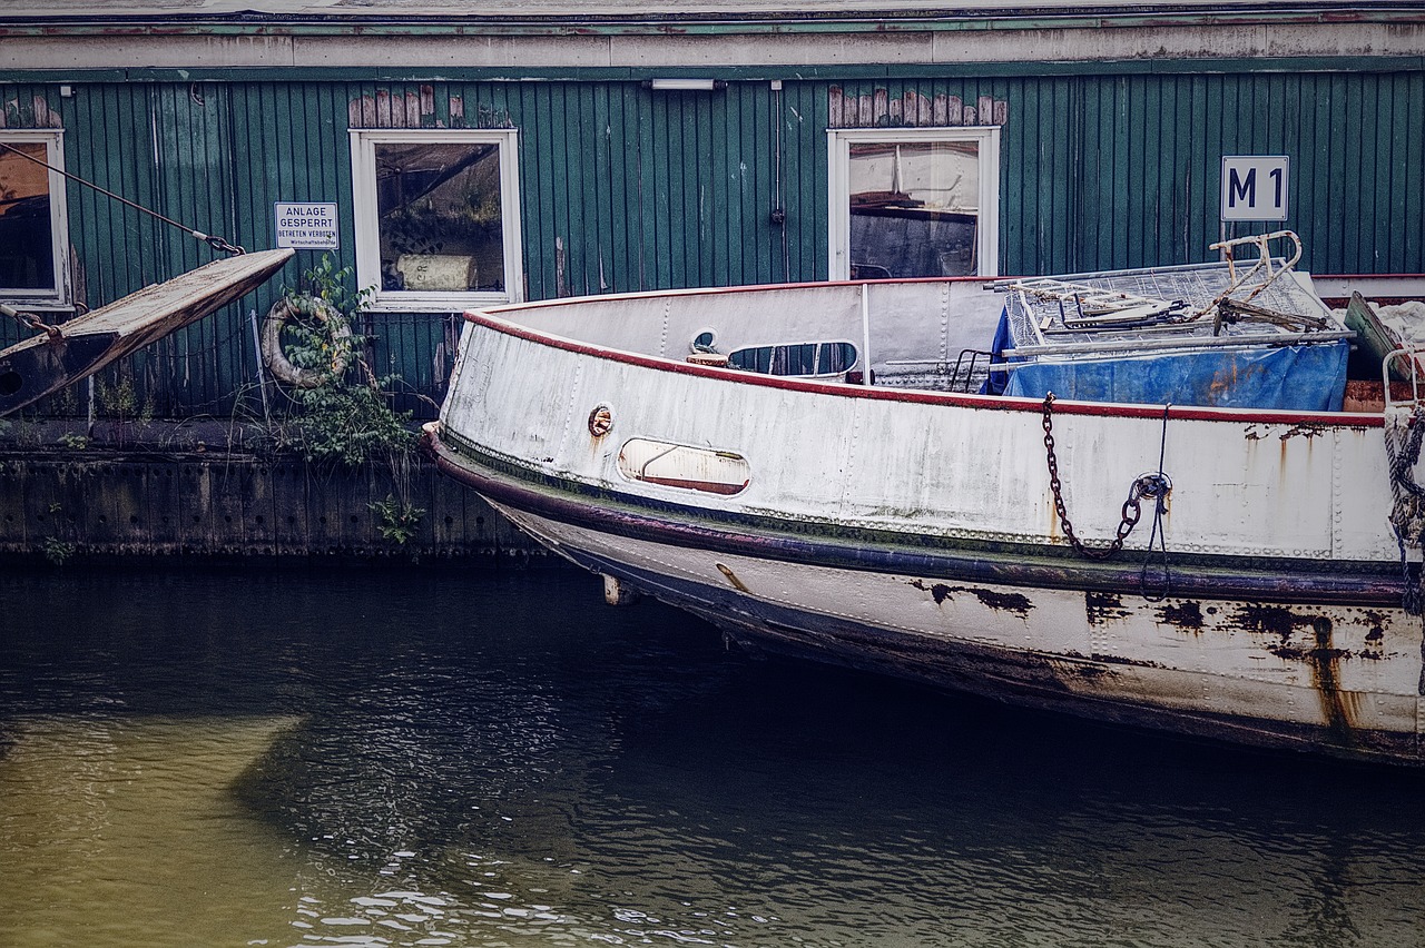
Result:
{"label": "entire white-framed window nearest the M 1 sign, frame and glass", "polygon": [[999,273],[999,128],[828,135],[832,279]]}

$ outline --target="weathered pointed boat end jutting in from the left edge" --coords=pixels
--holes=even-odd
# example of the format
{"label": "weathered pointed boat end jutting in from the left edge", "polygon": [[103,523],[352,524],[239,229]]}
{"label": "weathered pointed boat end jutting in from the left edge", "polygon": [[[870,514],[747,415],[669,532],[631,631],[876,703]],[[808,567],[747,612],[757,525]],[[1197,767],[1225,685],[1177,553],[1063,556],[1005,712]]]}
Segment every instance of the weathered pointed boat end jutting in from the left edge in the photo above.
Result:
{"label": "weathered pointed boat end jutting in from the left edge", "polygon": [[[60,326],[26,319],[37,335],[0,352],[0,416],[87,379],[115,359],[247,296],[294,253],[258,251],[219,258]],[[10,307],[4,310],[0,315],[24,317]]]}

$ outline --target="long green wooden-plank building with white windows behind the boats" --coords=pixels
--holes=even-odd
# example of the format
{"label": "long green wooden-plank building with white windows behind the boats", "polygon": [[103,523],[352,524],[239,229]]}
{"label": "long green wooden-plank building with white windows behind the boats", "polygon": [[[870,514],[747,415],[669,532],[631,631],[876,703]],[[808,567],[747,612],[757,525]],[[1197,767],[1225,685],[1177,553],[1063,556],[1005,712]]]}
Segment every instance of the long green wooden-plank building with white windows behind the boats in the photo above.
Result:
{"label": "long green wooden-plank building with white windows behind the boats", "polygon": [[[353,266],[418,416],[496,300],[1184,263],[1282,226],[1328,295],[1425,293],[1419,3],[20,0],[0,144],[298,245],[289,283]],[[1285,162],[1224,188],[1224,157]],[[1221,219],[1248,198],[1280,219]],[[63,316],[212,253],[0,154],[0,299]],[[276,292],[115,372],[229,413]]]}

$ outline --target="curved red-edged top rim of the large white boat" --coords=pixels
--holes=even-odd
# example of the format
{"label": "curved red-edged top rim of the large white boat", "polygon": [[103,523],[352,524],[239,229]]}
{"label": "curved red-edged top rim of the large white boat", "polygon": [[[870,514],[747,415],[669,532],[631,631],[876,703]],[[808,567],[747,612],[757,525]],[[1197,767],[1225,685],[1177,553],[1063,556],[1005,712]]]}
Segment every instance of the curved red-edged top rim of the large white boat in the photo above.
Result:
{"label": "curved red-edged top rim of the large white boat", "polygon": [[[1029,411],[1043,413],[1042,399],[1023,399],[1016,396],[990,396],[969,393],[931,391],[923,389],[899,389],[886,386],[862,386],[844,381],[821,381],[815,379],[801,379],[792,376],[771,376],[752,373],[740,369],[724,369],[718,366],[703,366],[697,363],[670,359],[665,356],[647,356],[643,353],[600,346],[597,343],[581,342],[569,336],[543,332],[524,326],[506,317],[506,313],[522,313],[540,309],[556,309],[580,306],[586,303],[607,305],[618,300],[643,300],[673,296],[721,296],[768,290],[797,290],[821,289],[832,286],[862,286],[871,285],[906,285],[906,283],[988,283],[985,278],[952,276],[952,278],[919,278],[892,280],[821,280],[804,283],[762,283],[755,286],[712,286],[671,290],[641,290],[634,293],[606,293],[597,296],[574,296],[563,299],[534,300],[524,303],[509,303],[472,309],[463,313],[463,319],[476,326],[493,332],[513,336],[524,342],[533,342],[551,349],[560,349],[580,356],[591,356],[606,362],[616,362],[656,372],[671,372],[677,374],[714,379],[720,381],[737,381],[741,384],[764,386],[768,389],[782,389],[789,391],[804,391],[808,394],[838,396],[846,399],[871,399],[881,401],[902,401],[912,404],[942,404],[960,409],[995,410],[995,411]],[[1114,418],[1167,418],[1183,421],[1217,421],[1231,424],[1288,424],[1288,426],[1321,426],[1332,428],[1381,428],[1385,426],[1384,413],[1358,411],[1291,411],[1278,409],[1221,409],[1201,406],[1176,404],[1129,404],[1112,401],[1074,401],[1070,399],[1054,399],[1056,414],[1094,416]]]}

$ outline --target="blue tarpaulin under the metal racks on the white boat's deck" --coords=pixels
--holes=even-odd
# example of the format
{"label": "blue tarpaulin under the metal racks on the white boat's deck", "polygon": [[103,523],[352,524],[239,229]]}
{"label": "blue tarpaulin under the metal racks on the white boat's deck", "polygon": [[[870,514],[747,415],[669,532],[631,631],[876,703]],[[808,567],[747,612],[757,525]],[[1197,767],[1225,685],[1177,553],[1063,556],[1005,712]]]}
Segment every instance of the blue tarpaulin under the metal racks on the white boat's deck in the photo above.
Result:
{"label": "blue tarpaulin under the metal racks on the white boat's deck", "polygon": [[[1006,362],[1003,352],[1012,347],[1007,320],[1000,317],[992,362]],[[982,391],[1029,399],[1053,391],[1074,401],[1340,411],[1349,352],[1351,344],[1342,339],[1311,346],[1033,362],[1009,373],[992,372]]]}

